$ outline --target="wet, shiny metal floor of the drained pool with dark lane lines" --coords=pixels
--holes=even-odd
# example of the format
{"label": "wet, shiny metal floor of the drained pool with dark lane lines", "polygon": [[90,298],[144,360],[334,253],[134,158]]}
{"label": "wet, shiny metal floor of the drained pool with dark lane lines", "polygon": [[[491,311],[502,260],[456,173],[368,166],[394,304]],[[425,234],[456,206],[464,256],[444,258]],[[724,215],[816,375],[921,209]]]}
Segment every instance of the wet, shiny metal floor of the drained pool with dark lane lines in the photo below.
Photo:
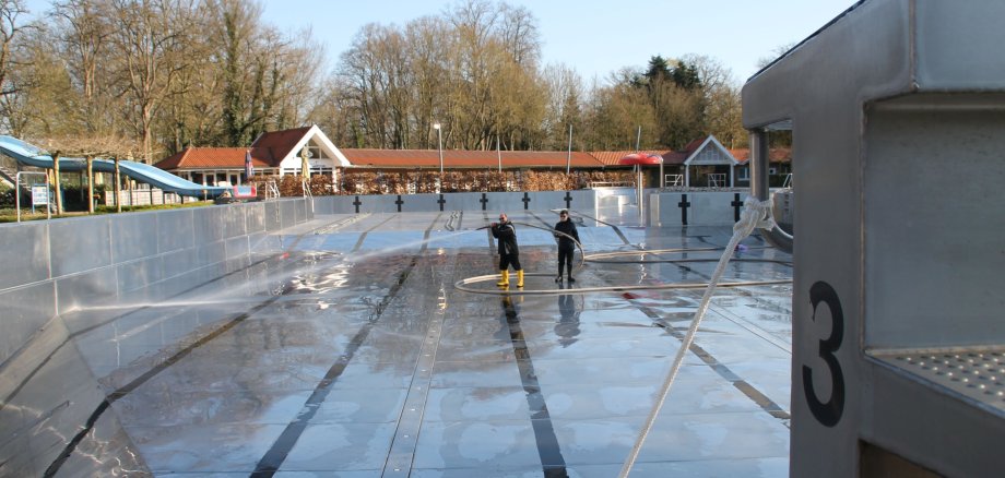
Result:
{"label": "wet, shiny metal floor of the drained pool with dark lane lines", "polygon": [[[732,234],[572,215],[588,253],[721,248]],[[525,270],[547,273],[525,289],[555,294],[454,289],[497,272],[475,230],[494,216],[318,216],[283,231],[288,254],[218,289],[64,318],[109,397],[99,416],[154,475],[615,476],[702,291],[561,287],[708,280],[712,261],[661,260],[720,252],[587,262],[558,285],[551,234],[519,224],[557,215],[511,212]],[[740,259],[772,261],[735,262],[725,279],[791,278],[791,256],[743,244]],[[788,475],[790,303],[789,285],[719,289],[632,477]],[[46,395],[16,398],[32,393]]]}

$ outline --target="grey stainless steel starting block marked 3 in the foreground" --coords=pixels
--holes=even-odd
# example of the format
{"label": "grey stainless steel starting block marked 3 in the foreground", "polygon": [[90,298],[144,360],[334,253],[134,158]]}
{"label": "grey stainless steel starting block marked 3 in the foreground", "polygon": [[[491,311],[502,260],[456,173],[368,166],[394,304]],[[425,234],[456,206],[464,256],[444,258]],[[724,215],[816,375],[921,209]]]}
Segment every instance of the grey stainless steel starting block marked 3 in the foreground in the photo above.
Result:
{"label": "grey stainless steel starting block marked 3 in the foreground", "polygon": [[1003,17],[862,1],[743,88],[757,198],[771,128],[800,177],[791,476],[1005,469]]}

